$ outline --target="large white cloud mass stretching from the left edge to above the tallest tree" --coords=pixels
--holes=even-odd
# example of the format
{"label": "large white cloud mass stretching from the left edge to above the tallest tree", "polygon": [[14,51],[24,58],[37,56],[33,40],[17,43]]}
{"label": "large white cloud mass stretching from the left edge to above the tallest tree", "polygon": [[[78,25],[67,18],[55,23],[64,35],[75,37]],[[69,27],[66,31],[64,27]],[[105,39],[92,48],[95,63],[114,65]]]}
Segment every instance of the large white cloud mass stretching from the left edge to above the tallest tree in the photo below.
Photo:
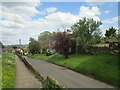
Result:
{"label": "large white cloud mass stretching from the left edge to above the tallest tree", "polygon": [[69,12],[55,12],[57,8],[50,7],[44,11],[49,13],[46,17],[32,20],[32,16],[41,13],[36,9],[38,5],[38,2],[6,2],[0,6],[2,8],[1,17],[5,18],[0,21],[4,44],[16,44],[19,39],[22,39],[24,44],[28,43],[30,37],[37,39],[38,35],[45,30],[52,32],[59,28],[70,28],[83,17],[100,20],[97,16],[101,14],[99,8],[84,6],[80,7],[78,15]]}

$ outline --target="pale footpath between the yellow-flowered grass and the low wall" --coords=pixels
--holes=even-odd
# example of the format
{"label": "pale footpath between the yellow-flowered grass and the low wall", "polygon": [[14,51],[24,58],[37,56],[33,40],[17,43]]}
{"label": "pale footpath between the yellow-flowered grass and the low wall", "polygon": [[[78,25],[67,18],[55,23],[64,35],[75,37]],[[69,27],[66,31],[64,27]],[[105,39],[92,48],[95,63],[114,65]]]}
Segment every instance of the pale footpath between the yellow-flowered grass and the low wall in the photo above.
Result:
{"label": "pale footpath between the yellow-flowered grass and the low wall", "polygon": [[15,88],[41,88],[41,83],[34,74],[16,56],[16,86]]}

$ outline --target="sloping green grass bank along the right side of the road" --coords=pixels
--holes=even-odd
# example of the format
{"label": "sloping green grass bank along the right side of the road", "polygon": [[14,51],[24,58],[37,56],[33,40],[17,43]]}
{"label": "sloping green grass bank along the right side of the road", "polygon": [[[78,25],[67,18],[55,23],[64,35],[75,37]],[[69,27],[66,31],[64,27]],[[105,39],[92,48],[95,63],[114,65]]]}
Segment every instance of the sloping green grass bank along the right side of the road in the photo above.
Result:
{"label": "sloping green grass bank along the right side of the road", "polygon": [[117,55],[71,55],[68,59],[60,60],[49,60],[50,56],[41,54],[30,55],[29,57],[62,65],[95,79],[118,86]]}

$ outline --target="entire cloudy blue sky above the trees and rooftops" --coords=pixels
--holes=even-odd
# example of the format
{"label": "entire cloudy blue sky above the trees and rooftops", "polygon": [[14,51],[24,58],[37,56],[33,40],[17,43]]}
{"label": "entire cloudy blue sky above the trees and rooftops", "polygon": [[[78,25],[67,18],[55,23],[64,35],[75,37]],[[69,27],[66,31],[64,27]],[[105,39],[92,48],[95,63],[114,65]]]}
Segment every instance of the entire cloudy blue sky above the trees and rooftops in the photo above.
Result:
{"label": "entire cloudy blue sky above the trees and rooftops", "polygon": [[[12,1],[12,0],[11,0]],[[65,2],[66,1],[66,2]],[[83,17],[101,21],[101,32],[118,28],[118,2],[110,0],[9,0],[0,3],[0,41],[4,45],[28,44],[29,38],[37,40],[44,31],[70,28]],[[89,0],[90,1],[90,0]],[[105,2],[106,1],[106,2]]]}

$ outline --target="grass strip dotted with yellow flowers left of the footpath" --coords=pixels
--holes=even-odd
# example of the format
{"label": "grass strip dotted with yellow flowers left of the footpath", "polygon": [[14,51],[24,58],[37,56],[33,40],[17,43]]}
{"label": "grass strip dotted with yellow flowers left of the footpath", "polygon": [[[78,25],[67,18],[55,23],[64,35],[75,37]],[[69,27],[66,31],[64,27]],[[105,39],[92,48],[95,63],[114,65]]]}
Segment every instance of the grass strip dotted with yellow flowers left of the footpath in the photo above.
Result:
{"label": "grass strip dotted with yellow flowers left of the footpath", "polygon": [[16,67],[14,54],[2,54],[2,88],[14,88],[16,82]]}

